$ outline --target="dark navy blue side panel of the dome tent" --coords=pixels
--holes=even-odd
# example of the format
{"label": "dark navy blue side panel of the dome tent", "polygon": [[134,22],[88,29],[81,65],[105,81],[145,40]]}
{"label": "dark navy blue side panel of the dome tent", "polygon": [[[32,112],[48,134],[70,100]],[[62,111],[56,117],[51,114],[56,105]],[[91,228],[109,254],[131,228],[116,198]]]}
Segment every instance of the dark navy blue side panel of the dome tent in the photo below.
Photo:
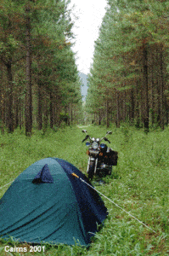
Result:
{"label": "dark navy blue side panel of the dome tent", "polygon": [[[60,166],[65,170],[65,173],[69,175],[70,183],[75,191],[76,201],[82,212],[83,223],[85,224],[85,230],[89,232],[89,236],[93,236],[90,233],[92,228],[93,232],[97,231],[97,223],[102,224],[105,218],[105,212],[107,209],[103,205],[103,201],[99,197],[99,194],[88,187],[85,183],[82,183],[80,179],[70,175],[72,172],[76,173],[77,176],[81,177],[87,183],[88,178],[82,174],[75,166],[71,165],[65,160],[56,159]],[[92,185],[91,183],[89,183]],[[94,219],[94,221],[93,221]]]}

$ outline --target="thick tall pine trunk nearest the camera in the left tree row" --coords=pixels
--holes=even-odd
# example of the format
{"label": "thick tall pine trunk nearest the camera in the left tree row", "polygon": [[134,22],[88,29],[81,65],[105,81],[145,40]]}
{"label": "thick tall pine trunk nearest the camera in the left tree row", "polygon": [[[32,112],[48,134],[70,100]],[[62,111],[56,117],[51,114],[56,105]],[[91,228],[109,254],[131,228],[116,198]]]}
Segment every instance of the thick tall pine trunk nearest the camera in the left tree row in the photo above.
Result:
{"label": "thick tall pine trunk nearest the camera in the left tree row", "polygon": [[32,96],[31,96],[31,20],[30,7],[26,14],[26,93],[25,93],[25,135],[31,136],[32,128]]}

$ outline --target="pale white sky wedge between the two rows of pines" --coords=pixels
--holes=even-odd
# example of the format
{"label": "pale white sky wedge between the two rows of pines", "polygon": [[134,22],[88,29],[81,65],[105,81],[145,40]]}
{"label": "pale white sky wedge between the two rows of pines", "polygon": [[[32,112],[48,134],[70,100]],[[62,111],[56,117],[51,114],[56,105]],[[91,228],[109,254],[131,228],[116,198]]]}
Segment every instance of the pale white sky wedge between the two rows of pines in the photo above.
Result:
{"label": "pale white sky wedge between the two rows of pines", "polygon": [[82,73],[89,73],[93,62],[94,41],[99,37],[106,3],[106,0],[71,0],[70,6],[75,4],[72,12],[78,16],[73,28],[76,44],[72,49],[77,52],[76,64]]}

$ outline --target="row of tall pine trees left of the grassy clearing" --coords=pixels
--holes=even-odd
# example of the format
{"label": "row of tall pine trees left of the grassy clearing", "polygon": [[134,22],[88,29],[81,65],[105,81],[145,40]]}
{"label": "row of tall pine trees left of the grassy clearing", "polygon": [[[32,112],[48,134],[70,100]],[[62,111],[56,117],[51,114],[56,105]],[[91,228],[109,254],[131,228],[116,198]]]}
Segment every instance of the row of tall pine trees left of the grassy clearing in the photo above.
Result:
{"label": "row of tall pine trees left of the grassy clearing", "polygon": [[81,82],[75,56],[70,1],[2,0],[0,3],[0,120],[2,131],[32,125],[45,130],[76,122]]}

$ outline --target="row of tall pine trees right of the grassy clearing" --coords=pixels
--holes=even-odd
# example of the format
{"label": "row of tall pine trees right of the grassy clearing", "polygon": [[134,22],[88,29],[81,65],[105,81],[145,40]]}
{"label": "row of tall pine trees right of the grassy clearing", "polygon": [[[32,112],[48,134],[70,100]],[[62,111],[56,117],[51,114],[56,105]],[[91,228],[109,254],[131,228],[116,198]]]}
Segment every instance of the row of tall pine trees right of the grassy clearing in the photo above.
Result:
{"label": "row of tall pine trees right of the grassy clearing", "polygon": [[168,124],[169,3],[109,0],[95,42],[86,108],[95,122]]}

